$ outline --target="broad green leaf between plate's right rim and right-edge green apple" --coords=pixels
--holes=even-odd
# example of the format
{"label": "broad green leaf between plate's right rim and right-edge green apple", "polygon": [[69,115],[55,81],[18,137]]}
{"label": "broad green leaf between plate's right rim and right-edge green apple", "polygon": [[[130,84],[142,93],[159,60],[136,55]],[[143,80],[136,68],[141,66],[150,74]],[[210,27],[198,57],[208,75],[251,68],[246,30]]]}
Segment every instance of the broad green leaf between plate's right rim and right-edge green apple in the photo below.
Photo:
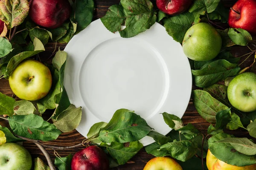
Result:
{"label": "broad green leaf between plate's right rim and right-edge green apple", "polygon": [[216,114],[219,111],[228,109],[226,105],[213,98],[206,91],[194,90],[192,91],[192,96],[196,110],[207,122],[215,123]]}

